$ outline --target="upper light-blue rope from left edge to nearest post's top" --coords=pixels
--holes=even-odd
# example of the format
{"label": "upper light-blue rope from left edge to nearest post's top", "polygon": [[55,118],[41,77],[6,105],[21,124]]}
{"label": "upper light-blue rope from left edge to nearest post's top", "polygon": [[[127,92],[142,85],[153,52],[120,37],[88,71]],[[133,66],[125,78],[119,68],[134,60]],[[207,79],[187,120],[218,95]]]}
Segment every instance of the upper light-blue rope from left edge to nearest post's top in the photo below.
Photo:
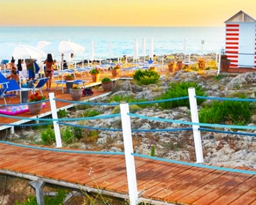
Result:
{"label": "upper light-blue rope from left edge to nearest post's top", "polygon": [[108,119],[112,117],[120,117],[120,114],[114,115],[100,115],[95,117],[79,117],[79,118],[63,118],[63,119],[43,119],[43,118],[28,118],[28,117],[17,117],[11,115],[0,114],[0,117],[7,117],[11,119],[29,119],[30,121],[83,121],[83,120],[95,120],[95,119]]}

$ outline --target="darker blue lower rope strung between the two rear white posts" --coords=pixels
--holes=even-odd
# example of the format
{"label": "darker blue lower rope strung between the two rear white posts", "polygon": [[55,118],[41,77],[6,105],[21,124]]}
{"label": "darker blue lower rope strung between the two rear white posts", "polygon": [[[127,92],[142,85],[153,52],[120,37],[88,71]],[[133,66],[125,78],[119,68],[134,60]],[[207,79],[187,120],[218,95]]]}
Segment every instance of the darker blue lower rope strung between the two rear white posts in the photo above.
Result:
{"label": "darker blue lower rope strung between the two rear white posts", "polygon": [[[123,131],[122,129],[110,129],[110,128],[101,128],[101,127],[89,127],[89,126],[83,126],[83,125],[73,125],[69,123],[58,123],[59,125],[66,125],[71,127],[79,127],[83,129],[97,129],[97,130],[103,130],[103,131]],[[150,133],[150,132],[175,132],[175,131],[189,131],[192,130],[192,128],[175,128],[175,129],[132,129],[132,132],[144,132],[144,133]]]}

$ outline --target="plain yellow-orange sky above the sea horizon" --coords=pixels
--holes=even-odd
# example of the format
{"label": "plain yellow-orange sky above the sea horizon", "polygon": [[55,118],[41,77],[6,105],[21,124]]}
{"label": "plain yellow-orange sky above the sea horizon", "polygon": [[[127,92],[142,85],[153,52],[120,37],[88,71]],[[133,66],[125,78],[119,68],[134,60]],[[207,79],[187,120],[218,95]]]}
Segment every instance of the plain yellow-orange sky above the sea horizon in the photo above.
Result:
{"label": "plain yellow-orange sky above the sea horizon", "polygon": [[0,0],[0,26],[223,26],[256,0]]}

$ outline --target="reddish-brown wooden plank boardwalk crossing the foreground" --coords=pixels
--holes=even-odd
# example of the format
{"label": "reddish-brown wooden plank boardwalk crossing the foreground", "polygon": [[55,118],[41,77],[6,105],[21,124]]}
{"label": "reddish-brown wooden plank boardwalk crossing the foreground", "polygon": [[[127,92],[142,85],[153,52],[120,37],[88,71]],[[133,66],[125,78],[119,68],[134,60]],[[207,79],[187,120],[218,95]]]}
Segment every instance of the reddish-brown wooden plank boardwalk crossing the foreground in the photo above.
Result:
{"label": "reddish-brown wooden plank boardwalk crossing the foreground", "polygon": [[[135,161],[142,201],[153,204],[256,204],[256,176],[141,157],[135,157]],[[102,190],[123,198],[127,198],[128,193],[124,155],[43,151],[0,143],[0,173],[70,188]]]}

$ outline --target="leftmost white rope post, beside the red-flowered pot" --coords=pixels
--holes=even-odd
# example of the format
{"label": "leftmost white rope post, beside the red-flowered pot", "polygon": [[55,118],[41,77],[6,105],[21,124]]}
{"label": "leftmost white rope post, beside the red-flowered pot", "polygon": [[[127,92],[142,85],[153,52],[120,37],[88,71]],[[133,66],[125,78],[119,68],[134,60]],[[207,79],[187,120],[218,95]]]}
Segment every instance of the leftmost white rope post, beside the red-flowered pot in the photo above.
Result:
{"label": "leftmost white rope post, beside the red-flowered pot", "polygon": [[[49,93],[49,98],[50,98],[50,109],[52,111],[52,119],[58,119],[56,102],[54,100],[54,92]],[[57,121],[53,121],[53,127],[54,127],[54,133],[55,133],[56,147],[62,147],[61,137],[60,137],[60,127],[58,126]]]}

